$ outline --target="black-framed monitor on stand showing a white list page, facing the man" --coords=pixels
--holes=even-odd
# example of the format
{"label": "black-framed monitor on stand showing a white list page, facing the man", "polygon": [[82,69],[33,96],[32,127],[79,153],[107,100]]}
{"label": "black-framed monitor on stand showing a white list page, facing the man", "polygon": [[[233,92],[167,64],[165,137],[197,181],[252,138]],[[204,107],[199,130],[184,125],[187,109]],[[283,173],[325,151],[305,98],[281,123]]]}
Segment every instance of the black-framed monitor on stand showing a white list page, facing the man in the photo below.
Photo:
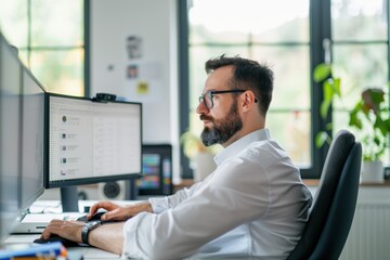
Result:
{"label": "black-framed monitor on stand showing a white list page, facing the man", "polygon": [[[142,172],[142,105],[46,94],[46,187],[130,180]],[[78,211],[62,193],[63,211]],[[77,196],[77,195],[76,195]]]}

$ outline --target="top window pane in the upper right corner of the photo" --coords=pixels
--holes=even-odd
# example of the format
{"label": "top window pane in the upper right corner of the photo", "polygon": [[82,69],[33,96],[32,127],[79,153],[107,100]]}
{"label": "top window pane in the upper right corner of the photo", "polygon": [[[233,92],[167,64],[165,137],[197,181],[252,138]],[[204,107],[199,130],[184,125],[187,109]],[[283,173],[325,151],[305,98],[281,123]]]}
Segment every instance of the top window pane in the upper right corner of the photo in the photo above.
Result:
{"label": "top window pane in the upper right corner of the photo", "polygon": [[386,0],[333,0],[334,40],[387,40]]}

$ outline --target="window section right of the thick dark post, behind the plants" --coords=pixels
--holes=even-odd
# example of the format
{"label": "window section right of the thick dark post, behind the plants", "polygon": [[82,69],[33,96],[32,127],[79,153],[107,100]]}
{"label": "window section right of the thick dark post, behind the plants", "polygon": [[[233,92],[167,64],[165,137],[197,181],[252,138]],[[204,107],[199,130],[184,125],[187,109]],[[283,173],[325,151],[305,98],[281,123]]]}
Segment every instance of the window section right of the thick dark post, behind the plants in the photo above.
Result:
{"label": "window section right of the thick dark post, behind the plants", "polygon": [[[334,131],[349,128],[348,109],[364,89],[385,89],[389,83],[388,4],[387,0],[332,1],[332,57],[342,80],[342,101],[336,99],[334,104]],[[389,150],[384,160],[389,165]]]}

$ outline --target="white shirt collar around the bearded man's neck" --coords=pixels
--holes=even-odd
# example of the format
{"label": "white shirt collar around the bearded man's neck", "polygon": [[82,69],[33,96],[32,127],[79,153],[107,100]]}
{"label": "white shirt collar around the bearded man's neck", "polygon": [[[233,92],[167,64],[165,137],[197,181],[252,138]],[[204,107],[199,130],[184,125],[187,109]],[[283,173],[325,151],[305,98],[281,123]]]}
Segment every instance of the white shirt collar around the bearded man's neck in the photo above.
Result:
{"label": "white shirt collar around the bearded man's neck", "polygon": [[245,147],[247,147],[249,144],[256,141],[262,141],[262,140],[269,140],[271,139],[270,131],[264,128],[260,130],[256,130],[251,133],[248,133],[247,135],[238,139],[227,147],[225,147],[223,151],[218,153],[214,156],[214,161],[219,166],[224,160],[237,155],[239,152],[242,152]]}

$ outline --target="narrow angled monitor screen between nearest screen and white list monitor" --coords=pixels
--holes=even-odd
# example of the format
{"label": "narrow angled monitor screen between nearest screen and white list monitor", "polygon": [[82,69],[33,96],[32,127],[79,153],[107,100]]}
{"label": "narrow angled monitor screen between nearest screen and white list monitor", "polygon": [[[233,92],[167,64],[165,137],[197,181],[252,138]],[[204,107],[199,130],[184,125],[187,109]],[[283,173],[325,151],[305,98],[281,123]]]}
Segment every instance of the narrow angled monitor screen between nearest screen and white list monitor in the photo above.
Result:
{"label": "narrow angled monitor screen between nearest screen and white list monitor", "polygon": [[42,195],[44,92],[32,74],[22,72],[22,193],[21,207],[28,207]]}

